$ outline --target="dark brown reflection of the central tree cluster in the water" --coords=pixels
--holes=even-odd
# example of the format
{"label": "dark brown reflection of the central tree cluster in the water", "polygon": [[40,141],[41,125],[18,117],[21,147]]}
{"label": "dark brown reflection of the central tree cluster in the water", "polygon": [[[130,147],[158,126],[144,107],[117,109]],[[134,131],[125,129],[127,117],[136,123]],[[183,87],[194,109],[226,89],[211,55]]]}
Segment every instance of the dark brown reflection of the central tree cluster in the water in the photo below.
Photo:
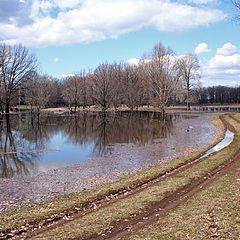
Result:
{"label": "dark brown reflection of the central tree cluster in the water", "polygon": [[174,123],[181,118],[180,115],[167,115],[165,119],[160,117],[153,112],[85,113],[63,117],[59,124],[69,141],[76,144],[94,141],[95,152],[104,154],[106,148],[115,143],[145,146],[157,138],[165,138],[173,133]]}

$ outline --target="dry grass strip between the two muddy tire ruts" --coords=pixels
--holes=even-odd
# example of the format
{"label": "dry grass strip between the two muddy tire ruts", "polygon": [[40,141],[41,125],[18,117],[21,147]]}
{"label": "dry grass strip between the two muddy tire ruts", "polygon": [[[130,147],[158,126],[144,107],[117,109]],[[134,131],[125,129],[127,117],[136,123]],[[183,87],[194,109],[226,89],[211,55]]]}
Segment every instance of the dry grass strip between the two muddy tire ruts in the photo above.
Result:
{"label": "dry grass strip between the two muddy tire ruts", "polygon": [[[237,127],[236,122],[233,120],[227,117],[226,120],[231,122],[234,127]],[[240,132],[240,129],[238,129],[238,131]],[[204,176],[210,170],[216,168],[232,157],[238,150],[239,146],[239,135],[237,135],[234,142],[229,147],[206,158],[191,168],[182,171],[175,176],[171,176],[134,196],[120,200],[111,206],[102,208],[95,213],[74,220],[62,227],[41,234],[33,239],[81,239],[89,237],[92,234],[101,234],[104,230],[110,229],[112,225],[116,225],[118,222],[131,218],[139,211],[149,208],[153,203],[160,201],[177,189],[186,186],[191,183],[193,179]],[[148,230],[146,230],[146,232],[148,232]],[[142,239],[142,236],[140,236],[140,239]]]}

